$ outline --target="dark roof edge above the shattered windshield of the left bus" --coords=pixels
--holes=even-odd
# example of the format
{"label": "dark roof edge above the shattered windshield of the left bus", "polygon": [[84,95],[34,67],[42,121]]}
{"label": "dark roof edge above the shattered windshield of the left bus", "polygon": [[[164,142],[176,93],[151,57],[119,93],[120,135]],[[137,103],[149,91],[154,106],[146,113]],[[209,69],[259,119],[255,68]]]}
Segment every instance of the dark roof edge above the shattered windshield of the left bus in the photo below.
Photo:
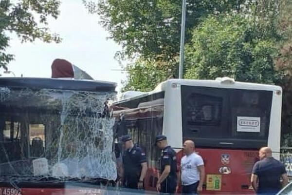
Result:
{"label": "dark roof edge above the shattered windshield of the left bus", "polygon": [[71,78],[0,78],[0,87],[114,92],[116,83]]}

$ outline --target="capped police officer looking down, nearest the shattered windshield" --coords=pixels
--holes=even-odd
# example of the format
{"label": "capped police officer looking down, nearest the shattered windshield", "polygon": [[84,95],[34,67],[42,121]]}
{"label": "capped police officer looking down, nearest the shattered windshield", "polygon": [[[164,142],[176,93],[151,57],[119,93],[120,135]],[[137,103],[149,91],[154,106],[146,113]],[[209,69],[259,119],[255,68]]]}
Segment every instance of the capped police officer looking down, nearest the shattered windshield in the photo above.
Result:
{"label": "capped police officer looking down, nearest the shattered windshield", "polygon": [[123,180],[127,188],[143,188],[147,171],[146,155],[142,149],[133,144],[132,138],[125,135],[121,138],[125,149],[123,154]]}

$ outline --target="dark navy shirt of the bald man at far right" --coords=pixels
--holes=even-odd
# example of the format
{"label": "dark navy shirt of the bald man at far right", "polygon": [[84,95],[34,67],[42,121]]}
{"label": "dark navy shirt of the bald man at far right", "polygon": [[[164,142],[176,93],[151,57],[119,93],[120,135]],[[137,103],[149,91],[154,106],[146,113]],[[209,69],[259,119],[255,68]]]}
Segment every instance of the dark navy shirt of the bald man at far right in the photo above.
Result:
{"label": "dark navy shirt of the bald man at far right", "polygon": [[273,157],[257,161],[253,168],[253,174],[258,177],[257,192],[279,191],[282,188],[280,178],[285,173],[285,166]]}

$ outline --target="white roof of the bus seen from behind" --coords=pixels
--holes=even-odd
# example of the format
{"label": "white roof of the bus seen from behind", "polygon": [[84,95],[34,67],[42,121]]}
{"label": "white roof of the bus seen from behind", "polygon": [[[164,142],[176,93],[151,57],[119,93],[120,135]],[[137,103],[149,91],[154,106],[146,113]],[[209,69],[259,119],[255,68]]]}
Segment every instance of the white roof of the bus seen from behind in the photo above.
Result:
{"label": "white roof of the bus seen from behind", "polygon": [[189,85],[189,86],[201,86],[201,87],[214,87],[214,88],[229,88],[229,89],[249,89],[249,90],[263,90],[263,91],[282,91],[282,88],[276,85],[268,85],[268,84],[258,84],[258,83],[250,83],[250,82],[238,82],[233,78],[216,78],[215,80],[199,80],[199,79],[169,79],[157,85],[157,87],[150,92],[125,98],[113,104],[119,104],[122,102],[126,102],[128,100],[143,98],[148,95],[158,93],[161,91],[165,91],[167,87],[176,87],[177,85]]}

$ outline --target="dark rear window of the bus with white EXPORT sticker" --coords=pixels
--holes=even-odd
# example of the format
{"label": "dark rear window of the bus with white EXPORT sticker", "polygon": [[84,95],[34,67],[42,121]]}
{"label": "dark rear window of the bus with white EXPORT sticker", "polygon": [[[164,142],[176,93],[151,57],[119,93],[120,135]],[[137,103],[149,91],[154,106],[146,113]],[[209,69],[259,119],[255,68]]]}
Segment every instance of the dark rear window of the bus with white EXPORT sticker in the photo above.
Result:
{"label": "dark rear window of the bus with white EXPORT sticker", "polygon": [[267,145],[272,91],[182,86],[183,138],[201,147]]}

